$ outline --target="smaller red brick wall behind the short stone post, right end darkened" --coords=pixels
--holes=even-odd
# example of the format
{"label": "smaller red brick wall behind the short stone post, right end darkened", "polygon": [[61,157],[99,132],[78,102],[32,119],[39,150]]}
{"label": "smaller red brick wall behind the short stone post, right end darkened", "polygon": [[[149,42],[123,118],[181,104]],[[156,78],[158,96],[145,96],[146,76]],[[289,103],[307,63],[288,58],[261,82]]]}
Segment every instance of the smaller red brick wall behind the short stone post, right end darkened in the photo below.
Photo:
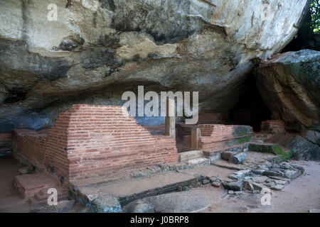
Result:
{"label": "smaller red brick wall behind the short stone post, right end darkened", "polygon": [[[201,124],[198,127],[201,130],[198,150],[203,151],[219,151],[222,148],[243,143],[252,136],[252,128],[250,126]],[[183,151],[191,150],[190,147],[190,135],[183,136]]]}

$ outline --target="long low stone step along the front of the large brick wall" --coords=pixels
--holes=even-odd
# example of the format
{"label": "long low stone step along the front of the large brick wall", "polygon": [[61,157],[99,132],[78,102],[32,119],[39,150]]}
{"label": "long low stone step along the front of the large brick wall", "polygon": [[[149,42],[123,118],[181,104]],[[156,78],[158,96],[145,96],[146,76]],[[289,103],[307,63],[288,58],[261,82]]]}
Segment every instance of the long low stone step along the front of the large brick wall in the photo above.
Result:
{"label": "long low stone step along the front of the large brick wall", "polygon": [[94,184],[87,187],[73,187],[76,201],[90,206],[100,195],[118,198],[122,206],[136,199],[174,192],[178,187],[196,185],[201,179],[181,172],[160,172],[146,177],[122,179],[115,182]]}

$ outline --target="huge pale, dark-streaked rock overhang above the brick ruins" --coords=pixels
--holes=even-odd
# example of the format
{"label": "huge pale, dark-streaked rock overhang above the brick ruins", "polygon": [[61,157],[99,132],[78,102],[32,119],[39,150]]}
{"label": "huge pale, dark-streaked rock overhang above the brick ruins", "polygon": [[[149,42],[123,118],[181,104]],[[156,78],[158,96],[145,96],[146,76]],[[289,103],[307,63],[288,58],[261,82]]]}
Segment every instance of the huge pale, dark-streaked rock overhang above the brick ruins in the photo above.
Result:
{"label": "huge pale, dark-streaked rock overhang above the brick ruins", "polygon": [[0,132],[52,126],[71,104],[122,104],[137,85],[198,91],[201,111],[228,111],[306,2],[57,0],[55,21],[49,0],[1,0]]}

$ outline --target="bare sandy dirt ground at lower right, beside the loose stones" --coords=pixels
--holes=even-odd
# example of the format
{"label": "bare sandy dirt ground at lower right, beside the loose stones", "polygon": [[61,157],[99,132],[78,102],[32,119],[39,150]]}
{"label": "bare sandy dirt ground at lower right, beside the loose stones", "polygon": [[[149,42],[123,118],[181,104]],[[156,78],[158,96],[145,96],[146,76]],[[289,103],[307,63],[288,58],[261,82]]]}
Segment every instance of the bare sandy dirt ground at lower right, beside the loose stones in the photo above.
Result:
{"label": "bare sandy dirt ground at lower right, beside the loose stones", "polygon": [[[262,206],[262,194],[228,195],[198,212],[308,213],[320,209],[320,162],[292,161],[302,165],[304,175],[293,179],[282,191],[271,191],[271,205]],[[215,189],[207,187],[208,192]]]}

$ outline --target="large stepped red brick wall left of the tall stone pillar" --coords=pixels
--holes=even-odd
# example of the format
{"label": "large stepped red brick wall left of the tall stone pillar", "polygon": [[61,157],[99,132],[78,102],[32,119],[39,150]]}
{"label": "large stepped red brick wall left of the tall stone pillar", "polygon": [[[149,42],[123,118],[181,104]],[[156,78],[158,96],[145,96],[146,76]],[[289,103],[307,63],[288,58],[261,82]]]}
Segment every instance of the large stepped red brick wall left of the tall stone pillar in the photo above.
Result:
{"label": "large stepped red brick wall left of the tall stone pillar", "polygon": [[173,138],[151,135],[122,106],[73,105],[50,130],[16,130],[13,154],[60,182],[178,161]]}

